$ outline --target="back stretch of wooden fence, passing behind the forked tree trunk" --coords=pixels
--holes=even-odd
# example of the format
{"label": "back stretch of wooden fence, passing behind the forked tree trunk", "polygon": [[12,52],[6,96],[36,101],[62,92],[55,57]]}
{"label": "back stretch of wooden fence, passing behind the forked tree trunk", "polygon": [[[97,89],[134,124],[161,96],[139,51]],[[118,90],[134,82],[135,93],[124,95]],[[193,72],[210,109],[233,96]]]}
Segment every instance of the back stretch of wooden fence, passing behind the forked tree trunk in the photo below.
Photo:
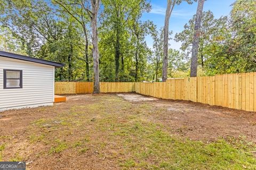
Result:
{"label": "back stretch of wooden fence, passing behind the forked tree trunk", "polygon": [[[101,92],[131,92],[134,82],[100,82]],[[89,94],[93,92],[93,82],[55,82],[55,94]]]}

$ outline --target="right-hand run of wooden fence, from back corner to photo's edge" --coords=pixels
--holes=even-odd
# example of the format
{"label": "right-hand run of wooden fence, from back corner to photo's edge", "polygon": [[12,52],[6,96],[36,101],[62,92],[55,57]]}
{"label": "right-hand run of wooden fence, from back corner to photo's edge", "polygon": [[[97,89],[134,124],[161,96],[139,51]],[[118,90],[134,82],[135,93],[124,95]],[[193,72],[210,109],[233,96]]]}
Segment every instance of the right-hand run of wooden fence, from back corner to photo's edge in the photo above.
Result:
{"label": "right-hand run of wooden fence, from back corner to photo's edge", "polygon": [[135,83],[135,92],[163,99],[191,100],[245,111],[256,111],[256,73]]}

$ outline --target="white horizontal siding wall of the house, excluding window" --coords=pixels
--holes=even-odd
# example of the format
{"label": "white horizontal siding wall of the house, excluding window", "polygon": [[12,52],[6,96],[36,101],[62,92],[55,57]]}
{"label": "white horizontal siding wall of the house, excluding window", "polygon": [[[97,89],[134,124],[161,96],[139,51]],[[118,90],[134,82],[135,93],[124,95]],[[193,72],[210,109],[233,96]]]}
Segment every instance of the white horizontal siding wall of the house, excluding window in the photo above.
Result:
{"label": "white horizontal siding wall of the house, excluding window", "polygon": [[[4,89],[3,69],[22,70],[21,89]],[[0,56],[0,111],[53,105],[54,66]]]}

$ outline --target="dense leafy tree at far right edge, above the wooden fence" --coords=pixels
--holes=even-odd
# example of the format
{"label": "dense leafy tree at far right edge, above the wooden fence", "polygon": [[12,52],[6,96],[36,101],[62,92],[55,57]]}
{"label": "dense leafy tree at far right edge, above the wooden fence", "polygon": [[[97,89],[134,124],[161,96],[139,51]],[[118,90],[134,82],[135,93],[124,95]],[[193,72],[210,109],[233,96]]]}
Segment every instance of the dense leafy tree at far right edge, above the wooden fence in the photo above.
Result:
{"label": "dense leafy tree at far right edge, above the wooden fence", "polygon": [[256,71],[256,1],[233,4],[227,28],[206,46],[207,75]]}

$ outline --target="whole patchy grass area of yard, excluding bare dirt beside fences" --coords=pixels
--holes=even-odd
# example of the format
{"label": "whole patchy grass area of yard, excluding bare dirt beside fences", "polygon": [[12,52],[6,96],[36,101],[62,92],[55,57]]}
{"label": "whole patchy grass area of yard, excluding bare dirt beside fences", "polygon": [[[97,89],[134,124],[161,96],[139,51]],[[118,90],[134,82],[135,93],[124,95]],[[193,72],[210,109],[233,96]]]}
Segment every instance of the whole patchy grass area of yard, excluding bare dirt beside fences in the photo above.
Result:
{"label": "whole patchy grass area of yard, excluding bare dirt beside fences", "polygon": [[0,161],[34,160],[31,169],[58,169],[67,160],[76,169],[256,169],[255,143],[246,138],[190,140],[155,121],[164,107],[113,95],[90,99],[93,102],[60,106],[57,114],[31,120],[23,136],[14,131],[0,137],[8,140],[0,146]]}

